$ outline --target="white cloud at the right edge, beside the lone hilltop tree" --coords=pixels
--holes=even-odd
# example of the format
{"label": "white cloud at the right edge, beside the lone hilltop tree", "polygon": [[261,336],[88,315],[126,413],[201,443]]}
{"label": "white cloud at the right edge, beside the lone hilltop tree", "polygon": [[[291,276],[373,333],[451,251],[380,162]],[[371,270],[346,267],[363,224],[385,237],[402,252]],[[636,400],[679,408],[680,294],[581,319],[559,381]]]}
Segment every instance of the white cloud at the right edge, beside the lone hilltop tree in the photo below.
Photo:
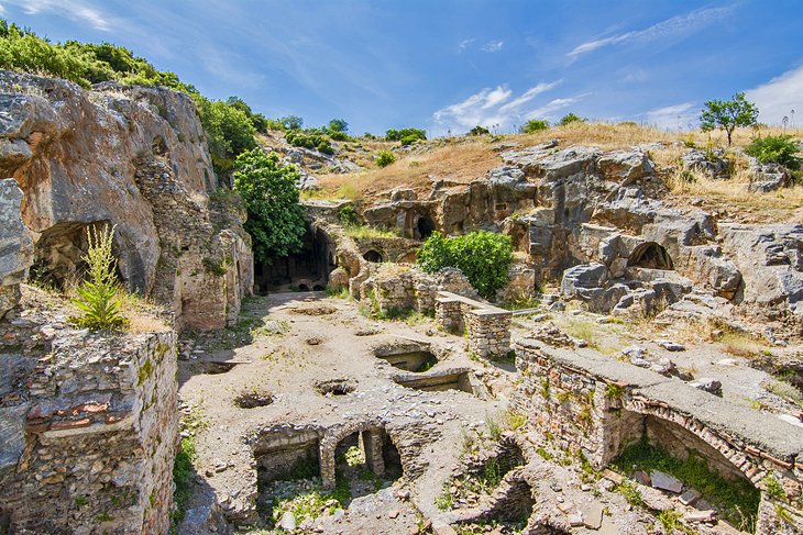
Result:
{"label": "white cloud at the right edge, beside the lone hilltop tree", "polygon": [[794,126],[803,124],[803,65],[750,89],[746,97],[756,102],[762,123],[781,124],[788,116]]}

